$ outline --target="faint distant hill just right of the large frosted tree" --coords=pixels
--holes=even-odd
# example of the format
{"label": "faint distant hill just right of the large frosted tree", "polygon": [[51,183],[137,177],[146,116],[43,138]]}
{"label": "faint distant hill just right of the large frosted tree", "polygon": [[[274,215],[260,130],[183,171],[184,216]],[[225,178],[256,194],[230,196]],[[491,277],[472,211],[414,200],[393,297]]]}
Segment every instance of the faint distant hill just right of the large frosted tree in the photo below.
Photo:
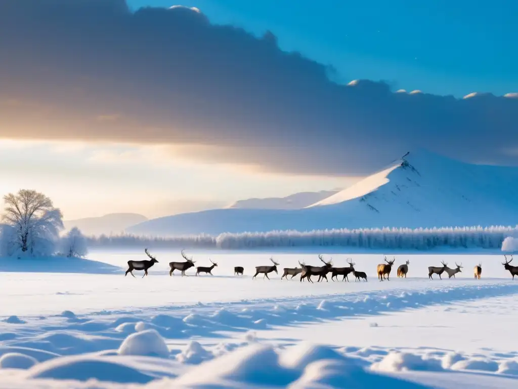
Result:
{"label": "faint distant hill just right of the large frosted tree", "polygon": [[119,234],[130,226],[147,221],[148,218],[136,213],[112,213],[100,217],[65,220],[65,230],[77,227],[85,235]]}

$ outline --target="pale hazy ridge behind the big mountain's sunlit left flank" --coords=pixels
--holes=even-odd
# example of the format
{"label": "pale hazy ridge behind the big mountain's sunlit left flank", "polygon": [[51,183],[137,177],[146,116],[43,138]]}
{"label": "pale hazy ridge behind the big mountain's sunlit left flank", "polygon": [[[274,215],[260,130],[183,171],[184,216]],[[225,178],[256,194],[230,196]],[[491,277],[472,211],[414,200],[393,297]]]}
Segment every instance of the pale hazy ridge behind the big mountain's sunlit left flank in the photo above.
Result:
{"label": "pale hazy ridge behind the big mountain's sunlit left flank", "polygon": [[298,210],[313,203],[327,199],[338,193],[338,190],[321,190],[320,192],[299,192],[286,197],[270,197],[266,199],[239,200],[227,208],[263,209],[263,210]]}

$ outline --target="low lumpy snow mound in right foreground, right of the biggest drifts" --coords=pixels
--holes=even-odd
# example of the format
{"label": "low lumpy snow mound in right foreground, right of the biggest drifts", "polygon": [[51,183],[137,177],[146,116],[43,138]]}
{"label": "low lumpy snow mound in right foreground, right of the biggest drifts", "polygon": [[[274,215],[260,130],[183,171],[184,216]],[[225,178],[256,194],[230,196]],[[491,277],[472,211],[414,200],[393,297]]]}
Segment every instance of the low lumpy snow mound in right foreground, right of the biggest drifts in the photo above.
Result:
{"label": "low lumpy snow mound in right foreground, right of the biggest drifts", "polygon": [[426,358],[421,355],[392,352],[387,354],[380,362],[371,366],[374,371],[398,372],[398,371],[442,371],[439,359]]}

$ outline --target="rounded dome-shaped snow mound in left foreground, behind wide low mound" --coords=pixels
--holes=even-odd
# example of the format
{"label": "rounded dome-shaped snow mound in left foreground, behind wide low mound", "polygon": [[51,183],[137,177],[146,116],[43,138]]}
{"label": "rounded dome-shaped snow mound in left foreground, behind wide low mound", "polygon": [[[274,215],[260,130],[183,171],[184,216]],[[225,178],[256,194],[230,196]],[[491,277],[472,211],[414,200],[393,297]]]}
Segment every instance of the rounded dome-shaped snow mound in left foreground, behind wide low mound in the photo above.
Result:
{"label": "rounded dome-shaped snow mound in left foreground, behind wide low mound", "polygon": [[122,342],[120,355],[147,355],[167,358],[169,349],[164,339],[154,329],[131,334]]}

